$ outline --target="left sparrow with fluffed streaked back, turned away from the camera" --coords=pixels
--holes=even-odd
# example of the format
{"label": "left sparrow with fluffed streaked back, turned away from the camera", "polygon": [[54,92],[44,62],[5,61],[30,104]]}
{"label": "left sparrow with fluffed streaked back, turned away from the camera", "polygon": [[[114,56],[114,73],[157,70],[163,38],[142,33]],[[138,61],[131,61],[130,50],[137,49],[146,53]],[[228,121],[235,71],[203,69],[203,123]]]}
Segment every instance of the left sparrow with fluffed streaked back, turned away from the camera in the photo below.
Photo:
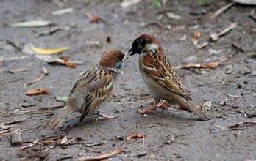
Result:
{"label": "left sparrow with fluffed streaked back, turned away from the camera", "polygon": [[99,64],[80,75],[74,84],[64,108],[55,113],[44,125],[45,128],[56,130],[65,118],[74,112],[82,113],[80,121],[85,116],[99,115],[104,119],[118,116],[107,116],[98,110],[113,93],[113,84],[121,69],[124,53],[120,50],[110,50],[102,54]]}

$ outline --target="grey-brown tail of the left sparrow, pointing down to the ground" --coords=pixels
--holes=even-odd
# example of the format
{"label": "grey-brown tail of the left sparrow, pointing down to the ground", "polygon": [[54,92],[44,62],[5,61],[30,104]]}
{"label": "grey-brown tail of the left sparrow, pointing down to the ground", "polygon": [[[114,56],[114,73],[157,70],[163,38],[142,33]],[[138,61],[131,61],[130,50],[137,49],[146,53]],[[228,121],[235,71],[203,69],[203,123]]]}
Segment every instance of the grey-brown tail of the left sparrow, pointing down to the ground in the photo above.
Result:
{"label": "grey-brown tail of the left sparrow, pointing down to the ground", "polygon": [[57,128],[60,127],[60,124],[63,123],[64,119],[68,116],[70,113],[74,113],[74,108],[71,108],[69,106],[65,106],[64,108],[61,108],[57,113],[55,113],[51,118],[46,122],[44,125],[44,128],[50,129],[50,130],[57,130]]}

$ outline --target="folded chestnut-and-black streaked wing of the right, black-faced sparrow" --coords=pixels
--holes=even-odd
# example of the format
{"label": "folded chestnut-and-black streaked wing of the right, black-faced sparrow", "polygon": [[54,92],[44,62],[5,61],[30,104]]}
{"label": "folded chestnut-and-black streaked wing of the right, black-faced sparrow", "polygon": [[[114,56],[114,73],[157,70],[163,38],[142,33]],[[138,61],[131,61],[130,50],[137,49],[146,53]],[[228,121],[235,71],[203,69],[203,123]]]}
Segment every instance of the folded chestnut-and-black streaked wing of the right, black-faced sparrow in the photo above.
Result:
{"label": "folded chestnut-and-black streaked wing of the right, black-faced sparrow", "polygon": [[173,91],[187,98],[188,96],[183,89],[182,83],[177,77],[171,64],[166,60],[166,57],[160,54],[148,53],[143,56],[141,61],[142,70],[152,78],[156,83],[164,86],[166,89]]}

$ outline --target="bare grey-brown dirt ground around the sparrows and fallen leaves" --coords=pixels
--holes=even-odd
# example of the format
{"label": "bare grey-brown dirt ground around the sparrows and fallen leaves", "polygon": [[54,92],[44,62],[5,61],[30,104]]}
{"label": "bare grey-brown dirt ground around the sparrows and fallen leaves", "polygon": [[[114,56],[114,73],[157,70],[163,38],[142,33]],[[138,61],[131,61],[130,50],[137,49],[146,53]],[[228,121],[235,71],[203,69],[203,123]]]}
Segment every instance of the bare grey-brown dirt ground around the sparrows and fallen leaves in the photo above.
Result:
{"label": "bare grey-brown dirt ground around the sparrows and fallen leaves", "polygon": [[[11,130],[0,135],[0,160],[77,160],[78,157],[117,149],[125,153],[118,154],[113,160],[256,160],[255,124],[227,127],[255,121],[256,23],[255,15],[252,15],[255,8],[235,4],[210,19],[228,2],[199,5],[196,1],[167,1],[160,9],[150,0],[129,7],[121,7],[120,2],[0,0],[0,123],[26,118],[6,124]],[[72,7],[73,12],[51,15],[52,11],[68,7]],[[93,23],[85,12],[102,20]],[[168,18],[166,12],[174,12],[181,18]],[[54,26],[14,28],[6,25],[25,20],[49,20],[63,30],[37,37],[38,33]],[[210,34],[225,29],[230,23],[238,25],[216,42],[209,40]],[[191,39],[196,31],[202,34],[200,42],[208,42],[205,48],[197,49],[193,45]],[[137,55],[127,61],[115,83],[113,99],[101,109],[107,114],[118,114],[118,119],[96,121],[96,116],[91,116],[83,124],[73,126],[79,121],[79,113],[75,113],[74,119],[67,123],[68,127],[64,124],[56,132],[42,131],[43,123],[57,111],[57,108],[44,111],[42,108],[63,105],[55,96],[68,95],[79,73],[97,64],[104,50],[117,48],[127,53],[132,40],[143,33],[154,34],[160,39],[166,57],[175,67],[184,62],[203,63],[230,58],[215,69],[177,69],[194,104],[213,103],[205,111],[213,119],[199,121],[193,113],[182,111],[177,105],[170,105],[168,110],[156,109],[153,114],[144,116],[138,113],[138,107],[149,105],[153,99],[138,71]],[[111,43],[106,41],[107,37]],[[92,41],[100,44],[91,45]],[[26,44],[40,48],[69,46],[71,50],[54,57],[68,56],[71,61],[84,63],[76,68],[48,64],[22,52]],[[26,57],[8,60],[21,56]],[[49,75],[26,86],[38,78],[42,67],[49,71]],[[232,71],[227,70],[230,67]],[[10,72],[21,68],[26,71]],[[49,88],[51,93],[26,95],[29,89],[40,87]],[[12,146],[8,133],[18,128],[22,130],[24,143]],[[130,134],[145,134],[146,138],[127,141]],[[61,146],[60,140],[65,135],[68,140],[81,138],[82,141],[74,139]],[[40,138],[37,145],[20,149],[36,138]],[[60,139],[55,143],[42,141],[57,138]]]}

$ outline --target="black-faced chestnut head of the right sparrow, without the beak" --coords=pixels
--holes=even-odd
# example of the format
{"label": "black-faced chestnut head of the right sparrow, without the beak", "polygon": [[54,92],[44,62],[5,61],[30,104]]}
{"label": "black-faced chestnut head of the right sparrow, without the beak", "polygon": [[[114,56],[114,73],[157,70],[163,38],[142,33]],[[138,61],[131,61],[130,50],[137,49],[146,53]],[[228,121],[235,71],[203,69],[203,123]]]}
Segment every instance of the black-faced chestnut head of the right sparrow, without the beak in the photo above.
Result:
{"label": "black-faced chestnut head of the right sparrow, without the beak", "polygon": [[132,42],[132,48],[129,50],[129,56],[136,53],[141,54],[143,50],[149,50],[151,46],[157,48],[160,52],[163,52],[163,48],[160,45],[160,41],[157,40],[152,34],[141,34]]}

